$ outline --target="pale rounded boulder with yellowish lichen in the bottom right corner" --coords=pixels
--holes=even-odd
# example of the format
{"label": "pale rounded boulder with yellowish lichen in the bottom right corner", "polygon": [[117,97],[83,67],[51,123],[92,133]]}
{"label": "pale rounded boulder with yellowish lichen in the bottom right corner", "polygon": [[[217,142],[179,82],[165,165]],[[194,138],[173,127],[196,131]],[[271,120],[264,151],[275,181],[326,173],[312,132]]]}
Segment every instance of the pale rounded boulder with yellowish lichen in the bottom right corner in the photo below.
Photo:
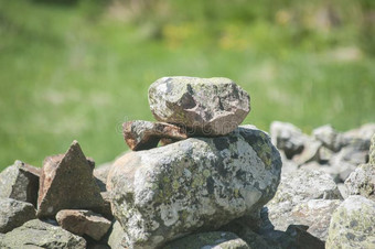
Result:
{"label": "pale rounded boulder with yellowish lichen in the bottom right corner", "polygon": [[334,212],[326,248],[375,248],[375,202],[347,197]]}

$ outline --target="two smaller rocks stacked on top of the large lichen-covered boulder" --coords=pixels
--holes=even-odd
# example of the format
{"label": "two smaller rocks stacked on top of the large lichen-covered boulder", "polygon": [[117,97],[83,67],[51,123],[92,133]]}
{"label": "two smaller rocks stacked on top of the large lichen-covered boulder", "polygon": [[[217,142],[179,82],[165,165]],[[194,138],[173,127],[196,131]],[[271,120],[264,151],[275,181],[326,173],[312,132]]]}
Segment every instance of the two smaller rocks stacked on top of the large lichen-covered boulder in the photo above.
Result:
{"label": "two smaller rocks stacked on top of the large lichen-covered boulder", "polygon": [[124,137],[133,151],[191,137],[225,136],[250,111],[250,97],[228,78],[163,77],[149,88],[159,122],[128,121]]}

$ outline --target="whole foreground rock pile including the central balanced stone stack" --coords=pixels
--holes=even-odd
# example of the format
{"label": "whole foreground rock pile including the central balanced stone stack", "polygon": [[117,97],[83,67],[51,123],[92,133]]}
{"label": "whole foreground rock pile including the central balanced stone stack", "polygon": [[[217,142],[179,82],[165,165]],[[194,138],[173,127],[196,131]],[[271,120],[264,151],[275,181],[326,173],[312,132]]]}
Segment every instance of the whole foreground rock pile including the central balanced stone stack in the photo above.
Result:
{"label": "whole foreground rock pile including the central balanced stone stack", "polygon": [[272,129],[280,156],[239,126],[250,98],[233,80],[164,77],[149,102],[157,122],[125,122],[132,151],[114,163],[95,167],[74,141],[41,169],[1,172],[0,248],[374,248],[375,136],[343,201],[324,171],[281,175],[310,145]]}

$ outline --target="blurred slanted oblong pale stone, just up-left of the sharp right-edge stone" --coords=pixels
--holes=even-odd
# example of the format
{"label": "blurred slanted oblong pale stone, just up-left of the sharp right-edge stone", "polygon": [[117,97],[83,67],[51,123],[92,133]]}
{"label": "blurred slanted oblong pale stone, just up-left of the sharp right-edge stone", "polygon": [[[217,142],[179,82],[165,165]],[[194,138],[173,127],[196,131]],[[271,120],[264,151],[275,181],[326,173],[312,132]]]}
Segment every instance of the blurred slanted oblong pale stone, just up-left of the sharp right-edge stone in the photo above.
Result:
{"label": "blurred slanted oblong pale stone, just up-left of the sharp right-edge stone", "polygon": [[336,182],[344,182],[357,165],[366,163],[368,148],[368,141],[357,140],[341,149],[329,162],[332,177]]}

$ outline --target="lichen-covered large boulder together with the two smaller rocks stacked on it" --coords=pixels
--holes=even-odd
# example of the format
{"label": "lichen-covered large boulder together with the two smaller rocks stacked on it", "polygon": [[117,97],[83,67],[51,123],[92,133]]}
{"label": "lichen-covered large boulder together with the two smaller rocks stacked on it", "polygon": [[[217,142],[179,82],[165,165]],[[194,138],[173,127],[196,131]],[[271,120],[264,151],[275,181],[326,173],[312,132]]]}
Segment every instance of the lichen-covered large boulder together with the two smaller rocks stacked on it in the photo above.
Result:
{"label": "lichen-covered large boulder together with the two smaller rocks stacked on it", "polygon": [[[158,122],[124,123],[133,152],[119,158],[107,177],[114,228],[122,235],[111,243],[201,248],[231,237],[231,248],[248,248],[231,230],[216,230],[258,218],[281,172],[268,134],[239,126],[250,111],[249,95],[228,78],[163,77],[150,86],[149,104]],[[203,234],[185,237],[197,231]],[[211,243],[189,243],[210,236],[216,238]]]}

